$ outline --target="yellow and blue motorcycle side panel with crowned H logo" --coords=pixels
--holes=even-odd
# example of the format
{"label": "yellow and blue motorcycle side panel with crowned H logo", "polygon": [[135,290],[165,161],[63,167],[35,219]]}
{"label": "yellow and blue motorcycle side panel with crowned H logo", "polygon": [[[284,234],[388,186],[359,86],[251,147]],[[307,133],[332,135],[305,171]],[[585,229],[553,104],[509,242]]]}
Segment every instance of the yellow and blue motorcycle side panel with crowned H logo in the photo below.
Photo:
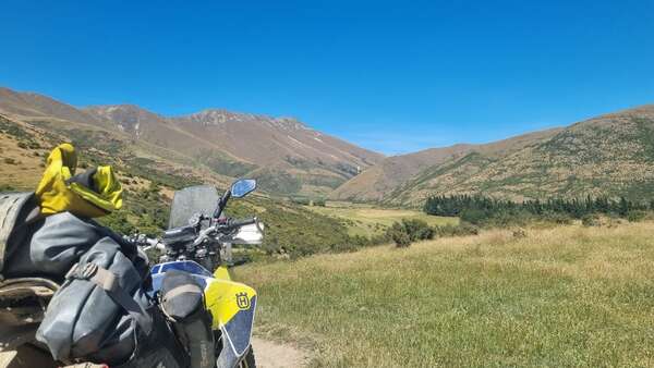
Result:
{"label": "yellow and blue motorcycle side panel with crowned H logo", "polygon": [[220,329],[222,351],[218,367],[235,367],[251,344],[256,292],[225,279],[213,279],[205,289],[207,308],[214,318],[213,329]]}

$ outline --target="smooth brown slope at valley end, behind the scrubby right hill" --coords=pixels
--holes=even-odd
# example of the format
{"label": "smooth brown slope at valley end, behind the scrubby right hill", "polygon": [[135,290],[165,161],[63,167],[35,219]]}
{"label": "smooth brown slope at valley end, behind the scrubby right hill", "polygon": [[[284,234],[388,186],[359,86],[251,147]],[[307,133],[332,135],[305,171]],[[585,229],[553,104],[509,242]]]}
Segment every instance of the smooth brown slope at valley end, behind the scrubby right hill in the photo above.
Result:
{"label": "smooth brown slope at valley end, behind the scrubby right hill", "polygon": [[[446,148],[432,148],[415,154],[386,158],[382,163],[364,171],[338,187],[330,197],[339,200],[391,201],[397,189],[412,182],[415,175],[429,172],[446,162],[457,162],[470,154],[487,157],[501,157],[550,137],[559,130],[548,130],[494,142],[485,145],[455,145]],[[462,173],[459,173],[462,174]]]}

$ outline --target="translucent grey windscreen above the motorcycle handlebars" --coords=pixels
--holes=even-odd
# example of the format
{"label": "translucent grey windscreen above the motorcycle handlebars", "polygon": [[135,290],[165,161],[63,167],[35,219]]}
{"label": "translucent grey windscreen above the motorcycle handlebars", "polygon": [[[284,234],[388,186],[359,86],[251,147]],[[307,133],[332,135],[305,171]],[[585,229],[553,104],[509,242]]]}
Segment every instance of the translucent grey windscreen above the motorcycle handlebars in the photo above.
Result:
{"label": "translucent grey windscreen above the motorcycle handlebars", "polygon": [[210,185],[197,185],[177,191],[170,207],[168,229],[185,226],[196,213],[211,216],[220,196]]}

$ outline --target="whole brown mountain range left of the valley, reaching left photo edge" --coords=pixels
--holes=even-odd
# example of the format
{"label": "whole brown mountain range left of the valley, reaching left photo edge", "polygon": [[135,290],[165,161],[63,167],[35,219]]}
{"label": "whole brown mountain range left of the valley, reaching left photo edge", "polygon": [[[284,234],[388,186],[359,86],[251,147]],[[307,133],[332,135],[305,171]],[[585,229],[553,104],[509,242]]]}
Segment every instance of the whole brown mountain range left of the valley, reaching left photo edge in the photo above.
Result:
{"label": "whole brown mountain range left of the valley, reaching left photo edge", "polygon": [[324,196],[383,158],[290,118],[225,110],[162,116],[132,105],[77,109],[8,88],[0,88],[0,113],[77,142],[105,137],[125,157],[209,172],[217,182],[253,176],[281,195]]}

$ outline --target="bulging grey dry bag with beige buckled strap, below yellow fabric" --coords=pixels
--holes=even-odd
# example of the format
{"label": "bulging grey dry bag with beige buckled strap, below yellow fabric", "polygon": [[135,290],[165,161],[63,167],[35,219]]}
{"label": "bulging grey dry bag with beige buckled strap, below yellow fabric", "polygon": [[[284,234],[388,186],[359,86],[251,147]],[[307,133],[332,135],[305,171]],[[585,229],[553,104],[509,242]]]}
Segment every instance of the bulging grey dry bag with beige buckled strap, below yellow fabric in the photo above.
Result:
{"label": "bulging grey dry bag with beige buckled strap, below yellow fabric", "polygon": [[134,263],[111,237],[82,255],[55,294],[36,339],[62,361],[128,361],[153,328]]}

